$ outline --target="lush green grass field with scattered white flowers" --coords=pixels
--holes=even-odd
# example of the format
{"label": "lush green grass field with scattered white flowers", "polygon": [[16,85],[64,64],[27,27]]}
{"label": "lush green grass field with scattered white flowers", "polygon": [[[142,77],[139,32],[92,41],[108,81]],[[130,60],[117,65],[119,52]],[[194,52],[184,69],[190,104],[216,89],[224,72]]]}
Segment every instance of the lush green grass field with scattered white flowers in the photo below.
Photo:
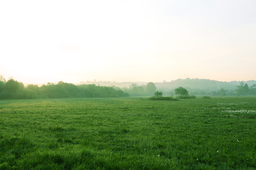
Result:
{"label": "lush green grass field with scattered white flowers", "polygon": [[1,100],[0,169],[256,169],[256,97]]}

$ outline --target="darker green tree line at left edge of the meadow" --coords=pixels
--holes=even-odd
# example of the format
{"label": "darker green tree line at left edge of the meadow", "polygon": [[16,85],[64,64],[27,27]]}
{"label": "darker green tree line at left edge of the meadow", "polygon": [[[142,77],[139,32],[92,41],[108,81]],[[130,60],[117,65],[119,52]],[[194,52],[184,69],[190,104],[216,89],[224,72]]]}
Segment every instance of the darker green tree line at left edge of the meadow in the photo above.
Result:
{"label": "darker green tree line at left edge of the meadow", "polygon": [[0,80],[0,98],[82,98],[82,97],[127,97],[118,87],[96,86],[95,84],[75,84],[59,81],[58,84],[48,83],[43,86],[23,83],[14,79],[8,81]]}

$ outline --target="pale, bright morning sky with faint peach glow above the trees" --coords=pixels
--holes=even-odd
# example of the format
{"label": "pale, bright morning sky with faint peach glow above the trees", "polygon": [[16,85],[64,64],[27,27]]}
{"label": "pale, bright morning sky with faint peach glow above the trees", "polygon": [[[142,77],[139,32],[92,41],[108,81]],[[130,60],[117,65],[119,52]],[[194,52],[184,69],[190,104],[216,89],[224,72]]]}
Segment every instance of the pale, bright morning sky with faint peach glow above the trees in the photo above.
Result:
{"label": "pale, bright morning sky with faint peach glow above the trees", "polygon": [[256,79],[256,1],[0,1],[0,75],[32,84]]}

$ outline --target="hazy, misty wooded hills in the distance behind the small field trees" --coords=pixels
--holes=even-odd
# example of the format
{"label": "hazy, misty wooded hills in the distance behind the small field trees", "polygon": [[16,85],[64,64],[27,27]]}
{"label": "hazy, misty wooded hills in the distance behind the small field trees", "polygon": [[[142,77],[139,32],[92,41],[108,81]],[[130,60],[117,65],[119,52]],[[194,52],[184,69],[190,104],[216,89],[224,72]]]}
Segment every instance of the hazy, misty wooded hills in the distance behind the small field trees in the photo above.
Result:
{"label": "hazy, misty wooded hills in the distance behind the small field trees", "polygon": [[[255,96],[256,81],[215,81],[210,79],[176,79],[163,82],[116,82],[116,81],[82,81],[80,84],[99,84],[100,86],[118,86],[130,96],[152,96],[156,89],[163,96],[175,96],[174,90],[179,86],[194,96]],[[152,89],[152,90],[149,90]]]}

